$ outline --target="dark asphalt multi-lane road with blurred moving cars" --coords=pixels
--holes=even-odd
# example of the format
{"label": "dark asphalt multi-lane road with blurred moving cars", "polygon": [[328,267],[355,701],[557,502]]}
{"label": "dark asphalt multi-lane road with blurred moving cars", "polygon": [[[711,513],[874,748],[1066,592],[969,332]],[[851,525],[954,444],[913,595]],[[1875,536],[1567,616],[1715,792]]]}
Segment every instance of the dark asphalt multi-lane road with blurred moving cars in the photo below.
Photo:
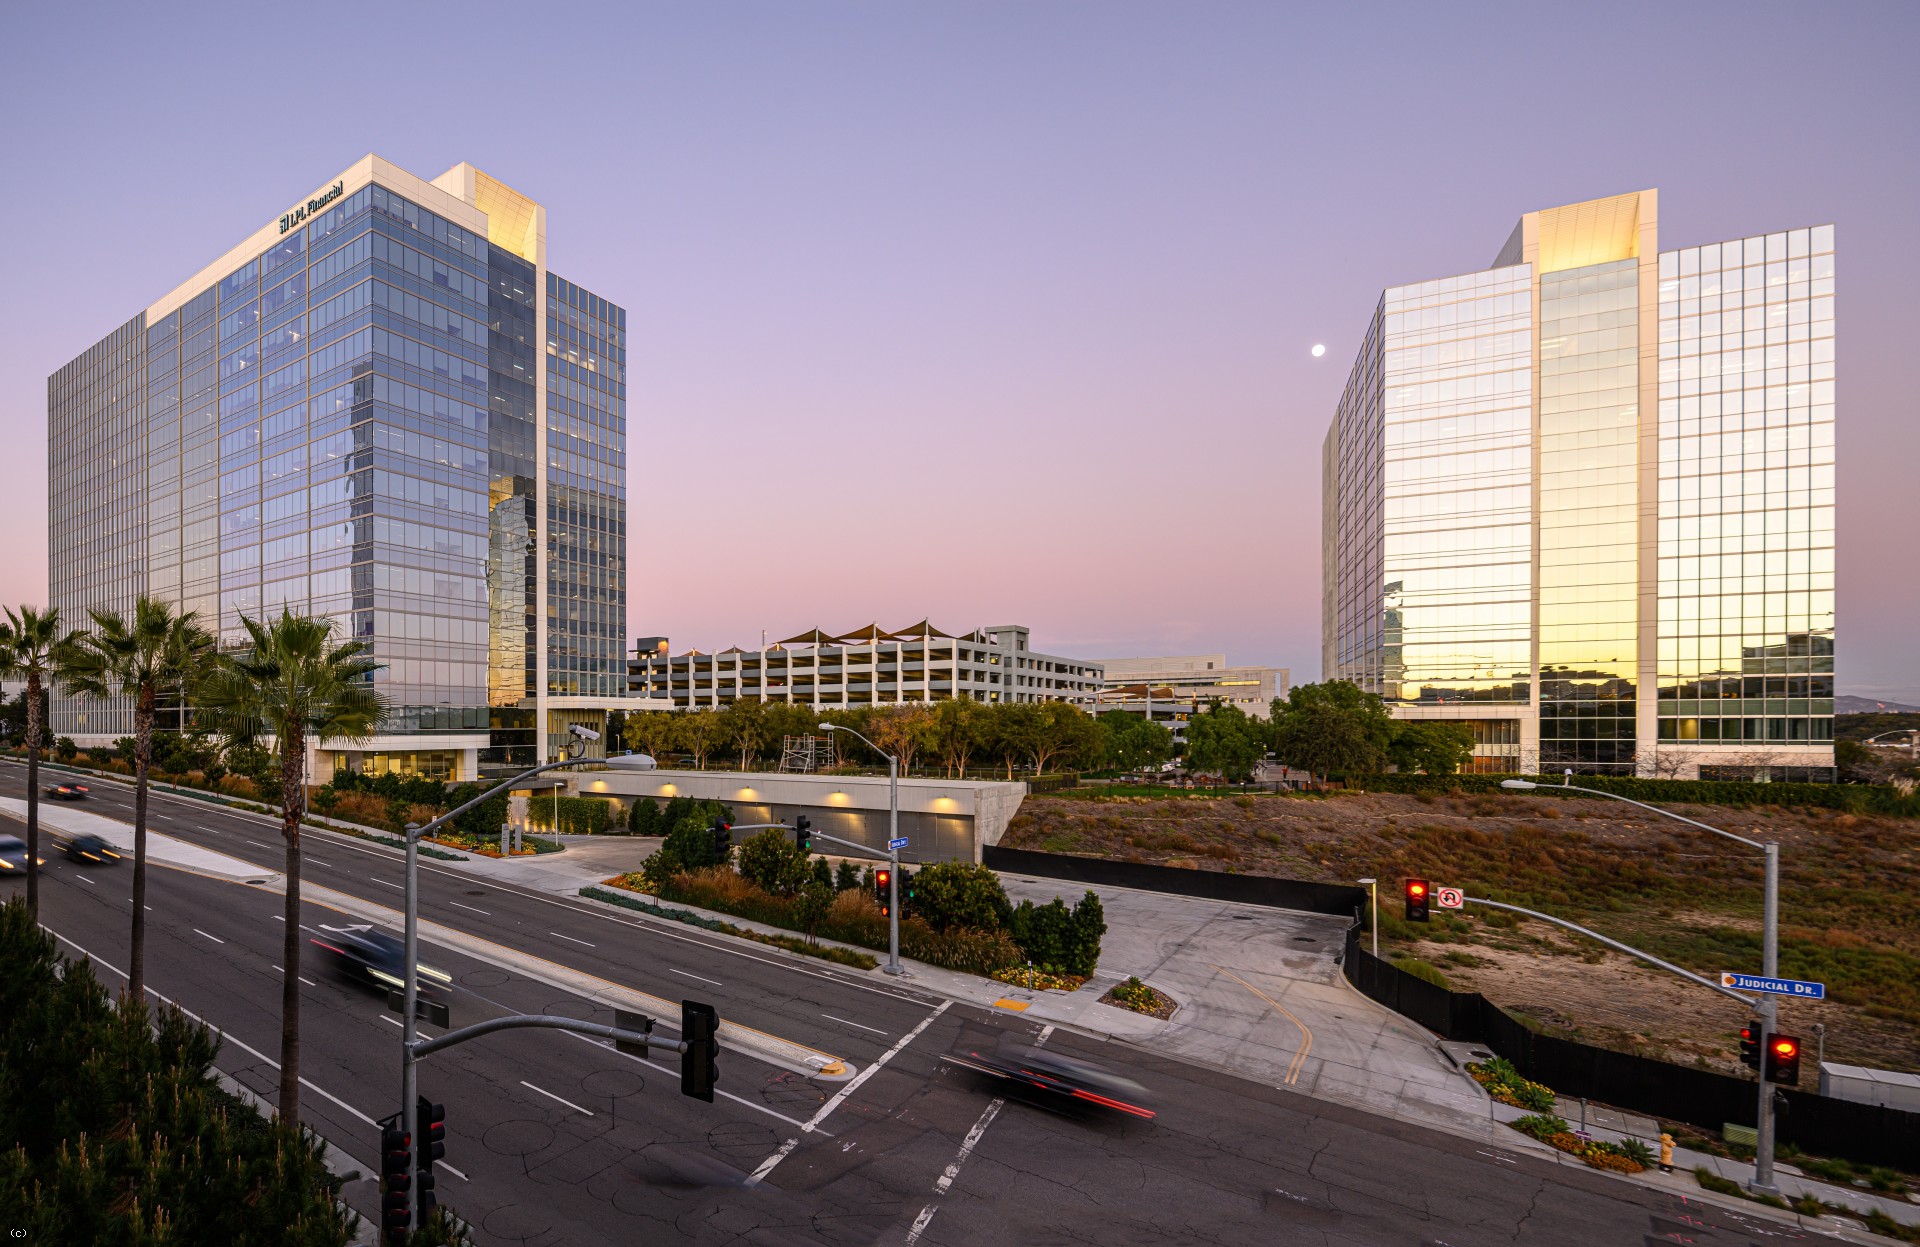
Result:
{"label": "dark asphalt multi-lane road with blurred moving cars", "polygon": [[[0,765],[0,794],[23,795]],[[131,794],[94,786],[86,809],[131,820]],[[259,865],[269,824],[156,795],[156,830]],[[10,826],[8,830],[19,830]],[[397,903],[397,853],[309,832],[307,878]],[[50,857],[42,920],[102,966],[123,966],[131,865]],[[0,895],[21,886],[0,886]],[[150,876],[152,988],[227,1036],[223,1070],[275,1097],[280,897],[180,870]],[[561,1032],[505,1032],[426,1061],[420,1088],[447,1105],[442,1199],[482,1243],[1740,1243],[1801,1237],[1776,1222],[1682,1203],[1210,1068],[1041,1030],[1016,1015],[945,1005],[910,986],[739,949],[659,924],[422,868],[422,913],[730,1020],[854,1061],[851,1088],[808,1084],[722,1055],[722,1095],[680,1095],[649,1066]],[[305,905],[309,926],[340,915]],[[563,990],[428,947],[455,976],[455,1024],[501,1013],[611,1022]],[[397,1018],[371,990],[303,965],[301,1114],[371,1161],[372,1118],[397,1099]],[[109,988],[123,980],[102,968]],[[948,1053],[1004,1032],[1123,1068],[1160,1114],[1146,1122],[1002,1099]],[[668,1057],[668,1063],[676,1059]],[[876,1068],[877,1066],[877,1068]],[[845,1091],[845,1093],[843,1093]],[[804,1124],[814,1124],[806,1130]],[[749,1184],[749,1174],[760,1182]],[[349,1201],[374,1209],[369,1182]],[[1682,1237],[1674,1237],[1682,1235]]]}

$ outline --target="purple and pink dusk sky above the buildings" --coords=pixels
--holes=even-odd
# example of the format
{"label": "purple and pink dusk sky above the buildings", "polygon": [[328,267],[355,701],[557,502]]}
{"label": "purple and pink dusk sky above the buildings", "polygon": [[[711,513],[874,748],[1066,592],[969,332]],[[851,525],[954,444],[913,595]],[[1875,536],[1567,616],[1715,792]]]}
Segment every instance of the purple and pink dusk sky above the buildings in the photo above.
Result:
{"label": "purple and pink dusk sky above the buildings", "polygon": [[541,200],[628,307],[634,634],[1308,680],[1379,290],[1659,186],[1667,248],[1837,223],[1839,684],[1920,699],[1920,6],[1300,8],[17,8],[0,601],[46,594],[46,375],[378,152]]}

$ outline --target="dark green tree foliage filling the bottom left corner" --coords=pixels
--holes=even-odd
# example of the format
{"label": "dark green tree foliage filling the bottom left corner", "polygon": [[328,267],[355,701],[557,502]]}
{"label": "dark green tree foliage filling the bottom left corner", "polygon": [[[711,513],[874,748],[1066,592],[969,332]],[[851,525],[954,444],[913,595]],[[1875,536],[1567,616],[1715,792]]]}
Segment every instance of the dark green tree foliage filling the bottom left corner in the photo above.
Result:
{"label": "dark green tree foliage filling the bottom left corner", "polygon": [[221,1091],[217,1034],[115,1005],[25,903],[0,909],[0,1226],[27,1243],[346,1247],[326,1143]]}

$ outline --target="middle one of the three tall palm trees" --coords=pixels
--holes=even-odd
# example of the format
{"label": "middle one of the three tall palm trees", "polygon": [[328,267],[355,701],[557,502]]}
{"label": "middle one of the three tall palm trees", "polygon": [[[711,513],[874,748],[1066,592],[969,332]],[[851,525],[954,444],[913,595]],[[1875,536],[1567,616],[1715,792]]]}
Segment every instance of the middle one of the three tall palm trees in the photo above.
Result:
{"label": "middle one of the three tall palm trees", "polygon": [[146,770],[154,761],[154,713],[177,697],[213,655],[213,636],[194,611],[140,596],[132,617],[88,611],[92,632],[75,632],[60,648],[61,686],[69,697],[132,697],[132,951],[127,995],[146,990]]}

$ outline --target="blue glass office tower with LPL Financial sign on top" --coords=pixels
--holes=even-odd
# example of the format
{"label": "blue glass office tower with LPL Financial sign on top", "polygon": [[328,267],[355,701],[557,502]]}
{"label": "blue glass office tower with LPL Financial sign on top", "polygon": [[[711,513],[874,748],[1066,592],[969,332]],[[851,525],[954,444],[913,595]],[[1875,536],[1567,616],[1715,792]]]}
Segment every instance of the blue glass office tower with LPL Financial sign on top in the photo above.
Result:
{"label": "blue glass office tower with LPL Financial sign on top", "polygon": [[[428,183],[359,161],[50,379],[54,605],[84,621],[150,594],[227,646],[292,609],[369,642],[392,717],[315,746],[319,778],[472,778],[597,722],[609,701],[553,655],[576,615],[624,621],[624,311],[593,300],[618,332],[595,336],[580,473],[549,396],[574,402],[555,290],[574,286],[545,271],[534,200],[470,165]],[[618,636],[609,669],[624,682]],[[132,722],[58,701],[54,728]]]}

